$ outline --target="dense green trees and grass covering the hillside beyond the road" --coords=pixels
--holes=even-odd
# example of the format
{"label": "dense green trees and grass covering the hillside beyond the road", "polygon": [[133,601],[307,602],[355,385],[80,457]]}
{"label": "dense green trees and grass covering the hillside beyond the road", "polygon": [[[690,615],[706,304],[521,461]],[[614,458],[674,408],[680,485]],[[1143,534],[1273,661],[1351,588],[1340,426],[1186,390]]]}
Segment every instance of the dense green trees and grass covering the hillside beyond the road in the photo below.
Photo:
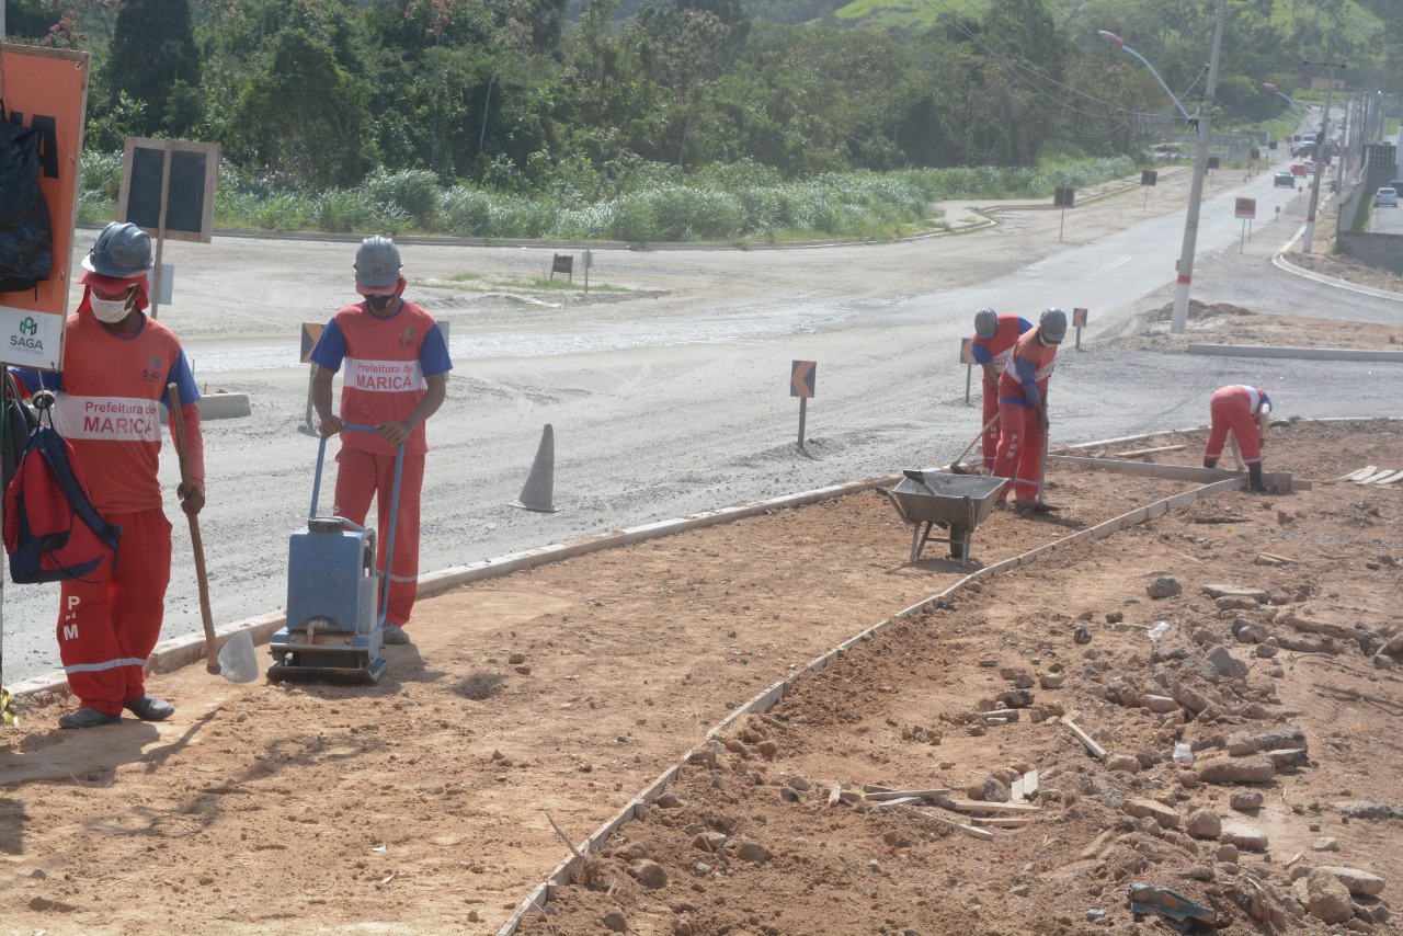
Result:
{"label": "dense green trees and grass covering the hillside beyond the road", "polygon": [[[826,232],[874,189],[901,205],[944,185],[919,170],[1138,154],[1142,118],[1169,102],[1094,28],[1121,32],[1193,107],[1214,17],[1207,0],[1086,0],[1076,18],[1061,0],[937,0],[930,25],[880,32],[756,20],[741,0],[63,1],[8,0],[8,25],[93,51],[90,161],[128,135],[213,140],[220,199],[253,199],[241,210],[278,226],[363,229],[376,216],[359,202],[428,185],[376,223],[629,240],[678,233],[658,220],[678,203],[699,212],[693,234],[716,218],[752,236]],[[838,22],[832,4],[753,1]],[[1368,29],[1389,18],[1397,35],[1403,4],[1372,0],[1360,21],[1354,0],[1282,15],[1291,3],[1228,4],[1222,118],[1280,115],[1261,81],[1298,87],[1301,58],[1397,55]],[[509,194],[525,195],[511,210]]]}

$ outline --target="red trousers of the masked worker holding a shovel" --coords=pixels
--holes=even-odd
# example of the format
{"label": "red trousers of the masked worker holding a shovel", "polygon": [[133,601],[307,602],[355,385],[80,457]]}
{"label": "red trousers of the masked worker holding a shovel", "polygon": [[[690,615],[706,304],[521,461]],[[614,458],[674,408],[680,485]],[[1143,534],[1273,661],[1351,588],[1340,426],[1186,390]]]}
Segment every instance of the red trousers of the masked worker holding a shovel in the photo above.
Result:
{"label": "red trousers of the masked worker holding a shovel", "polygon": [[160,509],[109,515],[122,528],[116,571],[105,582],[59,589],[59,660],[79,703],[121,714],[146,692],[143,667],[161,633],[171,574],[171,525]]}

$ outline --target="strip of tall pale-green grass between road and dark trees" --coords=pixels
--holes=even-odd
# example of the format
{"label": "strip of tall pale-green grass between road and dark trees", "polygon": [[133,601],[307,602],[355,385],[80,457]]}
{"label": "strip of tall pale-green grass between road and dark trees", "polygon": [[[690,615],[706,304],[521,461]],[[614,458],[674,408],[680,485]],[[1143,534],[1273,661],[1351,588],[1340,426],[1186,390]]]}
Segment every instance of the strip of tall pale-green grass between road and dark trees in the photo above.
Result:
{"label": "strip of tall pale-green grass between road and dark trees", "polygon": [[[932,227],[934,202],[955,198],[1047,198],[1128,175],[1129,157],[1068,160],[1041,168],[989,166],[901,173],[831,173],[784,181],[751,161],[713,164],[693,175],[638,160],[609,167],[581,187],[544,178],[536,192],[478,185],[441,188],[427,171],[377,170],[356,188],[306,192],[290,180],[250,178],[222,167],[216,223],[262,230],[408,232],[457,237],[777,241],[888,239]],[[86,154],[80,218],[112,216],[121,157]],[[105,215],[104,215],[105,212]]]}

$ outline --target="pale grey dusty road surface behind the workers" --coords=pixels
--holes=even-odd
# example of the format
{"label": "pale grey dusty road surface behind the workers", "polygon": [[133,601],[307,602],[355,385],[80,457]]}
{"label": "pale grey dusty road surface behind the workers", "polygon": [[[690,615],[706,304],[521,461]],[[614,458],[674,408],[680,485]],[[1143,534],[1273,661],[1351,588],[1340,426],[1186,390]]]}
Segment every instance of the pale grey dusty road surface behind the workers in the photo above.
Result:
{"label": "pale grey dusty road surface behind the workers", "polygon": [[[1233,218],[1237,195],[1257,198],[1250,241]],[[1403,383],[1392,366],[1099,345],[1170,302],[1184,227],[1183,212],[1167,209],[1174,196],[1162,185],[1142,202],[1136,189],[1065,219],[1012,206],[991,232],[887,246],[596,251],[596,282],[627,292],[547,303],[463,292],[449,278],[539,275],[549,248],[407,247],[411,296],[452,323],[456,359],[448,404],[429,424],[421,570],[944,463],[978,429],[955,359],[986,305],[1027,317],[1052,305],[1090,309],[1083,351],[1069,338],[1052,379],[1054,443],[1201,425],[1211,392],[1239,382],[1270,389],[1281,415],[1396,414]],[[1202,206],[1194,297],[1397,323],[1397,302],[1271,267],[1303,209],[1296,192],[1273,188],[1271,173],[1249,182],[1218,174]],[[202,533],[220,624],[285,603],[288,535],[303,523],[316,456],[300,431],[299,323],[354,297],[352,257],[344,243],[167,246],[178,302],[163,320],[206,390],[244,392],[254,404],[251,418],[205,427]],[[818,362],[805,452],[788,396],[794,359]],[[546,424],[561,509],[512,508]],[[163,479],[173,490],[168,449]],[[168,514],[177,561],[163,637],[199,630],[184,523],[173,505]],[[14,685],[58,668],[58,599],[52,587],[4,591]]]}

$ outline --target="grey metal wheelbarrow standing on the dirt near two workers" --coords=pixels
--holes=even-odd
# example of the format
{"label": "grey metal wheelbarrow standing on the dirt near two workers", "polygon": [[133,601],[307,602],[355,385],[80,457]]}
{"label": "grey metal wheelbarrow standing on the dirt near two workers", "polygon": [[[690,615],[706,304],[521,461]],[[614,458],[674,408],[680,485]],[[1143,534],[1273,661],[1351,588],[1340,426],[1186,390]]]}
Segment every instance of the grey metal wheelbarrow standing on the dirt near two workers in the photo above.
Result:
{"label": "grey metal wheelbarrow standing on the dirt near two workers", "polygon": [[[920,561],[920,551],[934,540],[950,543],[950,557],[958,559],[961,567],[969,566],[969,537],[989,518],[1007,479],[913,469],[905,476],[890,491],[884,487],[877,491],[912,525],[911,561]],[[936,526],[948,536],[932,536]]]}

